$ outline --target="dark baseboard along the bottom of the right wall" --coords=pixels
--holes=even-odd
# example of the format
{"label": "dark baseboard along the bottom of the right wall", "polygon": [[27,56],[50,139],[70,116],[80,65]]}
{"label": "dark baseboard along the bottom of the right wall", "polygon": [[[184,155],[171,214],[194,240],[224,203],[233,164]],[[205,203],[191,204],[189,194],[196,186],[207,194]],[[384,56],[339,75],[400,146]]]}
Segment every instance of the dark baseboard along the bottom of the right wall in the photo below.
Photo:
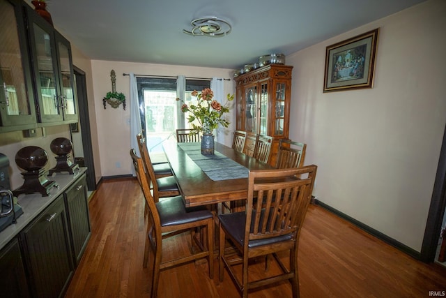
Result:
{"label": "dark baseboard along the bottom of the right wall", "polygon": [[330,207],[328,204],[325,204],[316,198],[314,198],[314,204],[317,204],[318,206],[321,206],[323,209],[326,209],[333,214],[336,214],[340,218],[345,219],[346,221],[352,223],[353,225],[356,225],[357,228],[360,228],[361,230],[364,230],[365,232],[371,234],[372,236],[384,241],[387,244],[390,244],[391,246],[394,246],[395,248],[399,249],[403,253],[407,253],[411,257],[421,260],[421,254],[418,251],[415,251],[413,248],[410,248],[409,246],[406,246],[405,244],[402,244],[401,242],[388,237],[386,234],[383,234],[382,232],[379,232],[378,230],[375,230],[374,228],[369,227],[368,225],[365,225],[364,223],[361,223],[360,221],[357,221],[355,218],[348,216],[347,214],[342,213],[341,211],[334,209],[333,207]]}

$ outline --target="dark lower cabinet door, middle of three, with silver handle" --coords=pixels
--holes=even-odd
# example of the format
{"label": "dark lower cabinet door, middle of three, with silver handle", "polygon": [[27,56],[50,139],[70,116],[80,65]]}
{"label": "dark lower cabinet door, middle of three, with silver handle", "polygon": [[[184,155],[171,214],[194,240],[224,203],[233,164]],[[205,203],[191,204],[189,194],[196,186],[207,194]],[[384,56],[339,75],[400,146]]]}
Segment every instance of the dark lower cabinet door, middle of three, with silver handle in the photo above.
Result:
{"label": "dark lower cabinet door, middle of three, with silver handle", "polygon": [[59,297],[73,272],[63,197],[57,198],[22,232],[33,292]]}

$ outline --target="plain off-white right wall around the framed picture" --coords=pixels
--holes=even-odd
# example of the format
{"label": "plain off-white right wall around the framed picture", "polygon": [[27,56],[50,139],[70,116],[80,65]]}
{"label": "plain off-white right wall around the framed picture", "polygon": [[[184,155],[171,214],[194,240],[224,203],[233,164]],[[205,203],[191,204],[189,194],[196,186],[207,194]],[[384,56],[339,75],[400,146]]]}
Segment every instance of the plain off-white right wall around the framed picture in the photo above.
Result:
{"label": "plain off-white right wall around the framed picture", "polygon": [[[325,48],[380,28],[373,89],[323,93]],[[314,195],[420,251],[446,123],[446,1],[426,1],[286,57],[290,138]]]}

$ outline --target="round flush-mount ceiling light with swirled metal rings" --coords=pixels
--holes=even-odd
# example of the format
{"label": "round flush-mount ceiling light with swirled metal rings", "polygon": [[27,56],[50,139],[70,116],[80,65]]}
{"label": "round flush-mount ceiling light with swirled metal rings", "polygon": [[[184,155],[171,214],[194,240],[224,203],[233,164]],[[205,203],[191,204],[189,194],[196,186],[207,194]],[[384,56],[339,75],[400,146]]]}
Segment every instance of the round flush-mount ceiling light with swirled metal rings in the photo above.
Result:
{"label": "round flush-mount ceiling light with swirled metal rings", "polygon": [[231,24],[219,17],[200,17],[190,22],[191,31],[183,29],[183,32],[193,36],[222,37],[231,32]]}

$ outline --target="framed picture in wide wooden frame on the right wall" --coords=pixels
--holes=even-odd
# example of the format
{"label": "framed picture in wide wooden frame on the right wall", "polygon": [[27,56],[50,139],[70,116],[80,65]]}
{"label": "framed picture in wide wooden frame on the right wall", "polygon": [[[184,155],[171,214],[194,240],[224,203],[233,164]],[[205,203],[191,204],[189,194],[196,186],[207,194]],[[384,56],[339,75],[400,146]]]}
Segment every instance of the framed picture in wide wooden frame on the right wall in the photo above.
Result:
{"label": "framed picture in wide wooden frame on the right wall", "polygon": [[323,91],[372,88],[379,28],[327,47]]}

